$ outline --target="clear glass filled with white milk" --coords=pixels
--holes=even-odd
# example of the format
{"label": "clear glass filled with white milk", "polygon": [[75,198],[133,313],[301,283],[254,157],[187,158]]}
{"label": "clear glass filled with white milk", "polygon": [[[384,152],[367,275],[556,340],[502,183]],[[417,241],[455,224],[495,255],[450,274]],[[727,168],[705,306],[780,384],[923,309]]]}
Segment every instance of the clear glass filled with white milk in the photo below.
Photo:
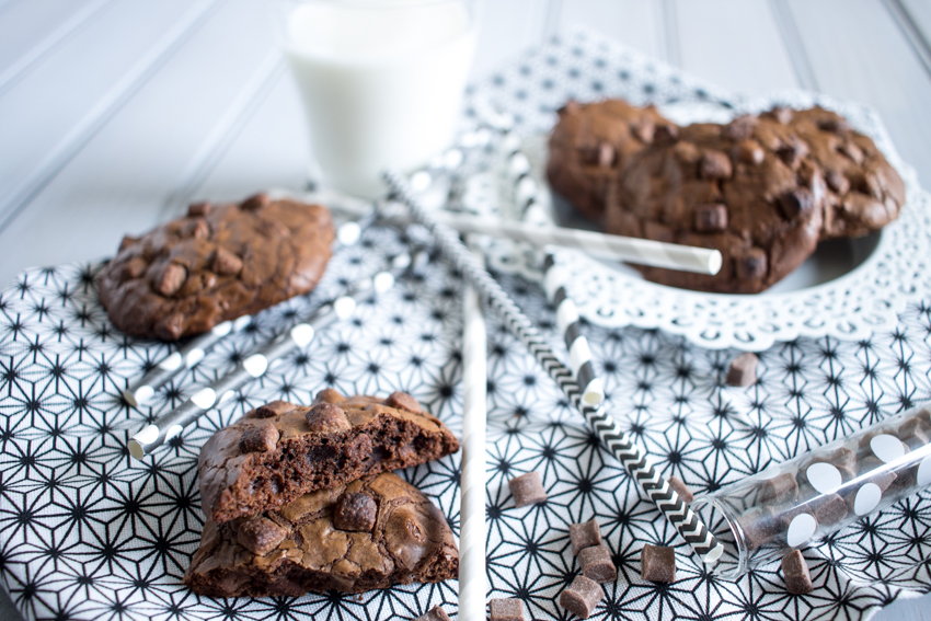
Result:
{"label": "clear glass filled with white milk", "polygon": [[324,185],[373,198],[386,168],[424,165],[453,139],[478,0],[289,0],[285,54]]}

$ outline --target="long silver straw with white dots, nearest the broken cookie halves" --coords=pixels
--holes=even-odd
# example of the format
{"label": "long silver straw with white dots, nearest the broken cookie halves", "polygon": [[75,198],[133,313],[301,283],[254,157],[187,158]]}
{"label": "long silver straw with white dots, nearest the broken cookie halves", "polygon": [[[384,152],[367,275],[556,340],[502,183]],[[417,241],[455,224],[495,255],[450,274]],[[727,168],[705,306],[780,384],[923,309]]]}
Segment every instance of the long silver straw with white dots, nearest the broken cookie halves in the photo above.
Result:
{"label": "long silver straw with white dots, nearest the broken cookie halves", "polygon": [[[405,269],[410,264],[410,255],[399,255],[393,262],[393,271]],[[246,382],[264,376],[268,368],[275,366],[280,358],[295,349],[307,347],[318,332],[337,321],[350,318],[358,301],[372,290],[384,292],[393,286],[394,275],[391,272],[380,272],[373,278],[355,285],[346,295],[336,298],[332,304],[325,304],[314,312],[309,321],[298,323],[287,333],[248,356],[228,375],[199,389],[180,406],[142,427],[129,439],[129,453],[136,459],[150,455],[211,407],[232,399],[235,391]]]}

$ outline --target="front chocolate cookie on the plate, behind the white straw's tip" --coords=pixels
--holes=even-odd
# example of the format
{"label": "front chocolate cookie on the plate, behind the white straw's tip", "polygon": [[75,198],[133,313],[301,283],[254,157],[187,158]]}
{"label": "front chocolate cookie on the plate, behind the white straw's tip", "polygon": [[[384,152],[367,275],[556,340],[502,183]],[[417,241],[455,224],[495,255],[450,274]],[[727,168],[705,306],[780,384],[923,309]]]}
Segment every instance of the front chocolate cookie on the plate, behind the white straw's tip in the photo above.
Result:
{"label": "front chocolate cookie on the plate, behind the white straw's tip", "polygon": [[694,124],[674,145],[632,158],[609,185],[606,230],[721,251],[715,276],[642,267],[650,280],[726,294],[756,294],[817,246],[825,181],[804,145],[773,119]]}

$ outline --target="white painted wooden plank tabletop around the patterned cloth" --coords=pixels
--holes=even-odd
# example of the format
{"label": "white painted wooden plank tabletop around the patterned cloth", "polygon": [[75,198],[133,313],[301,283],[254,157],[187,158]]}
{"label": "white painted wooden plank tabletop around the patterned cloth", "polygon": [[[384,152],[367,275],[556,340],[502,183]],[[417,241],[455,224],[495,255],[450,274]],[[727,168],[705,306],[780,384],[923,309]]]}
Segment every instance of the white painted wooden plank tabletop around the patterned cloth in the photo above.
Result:
{"label": "white painted wooden plank tabletop around the patterned cloth", "polygon": [[[303,185],[271,5],[0,0],[0,286],[108,255],[192,198]],[[728,89],[869,103],[931,186],[929,0],[485,0],[473,76],[575,24]],[[931,597],[876,619],[931,621]]]}

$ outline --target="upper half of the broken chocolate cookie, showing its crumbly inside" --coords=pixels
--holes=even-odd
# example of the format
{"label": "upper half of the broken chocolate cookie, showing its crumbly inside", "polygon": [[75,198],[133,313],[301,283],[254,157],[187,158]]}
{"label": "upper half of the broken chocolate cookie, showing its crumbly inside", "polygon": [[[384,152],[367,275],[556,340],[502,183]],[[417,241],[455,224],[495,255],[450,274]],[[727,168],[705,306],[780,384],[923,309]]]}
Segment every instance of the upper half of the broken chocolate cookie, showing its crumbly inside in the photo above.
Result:
{"label": "upper half of the broken chocolate cookie, showing its crumbly inside", "polygon": [[310,407],[273,401],[214,434],[197,465],[200,503],[222,524],[457,450],[456,436],[410,394],[346,398],[326,389]]}

